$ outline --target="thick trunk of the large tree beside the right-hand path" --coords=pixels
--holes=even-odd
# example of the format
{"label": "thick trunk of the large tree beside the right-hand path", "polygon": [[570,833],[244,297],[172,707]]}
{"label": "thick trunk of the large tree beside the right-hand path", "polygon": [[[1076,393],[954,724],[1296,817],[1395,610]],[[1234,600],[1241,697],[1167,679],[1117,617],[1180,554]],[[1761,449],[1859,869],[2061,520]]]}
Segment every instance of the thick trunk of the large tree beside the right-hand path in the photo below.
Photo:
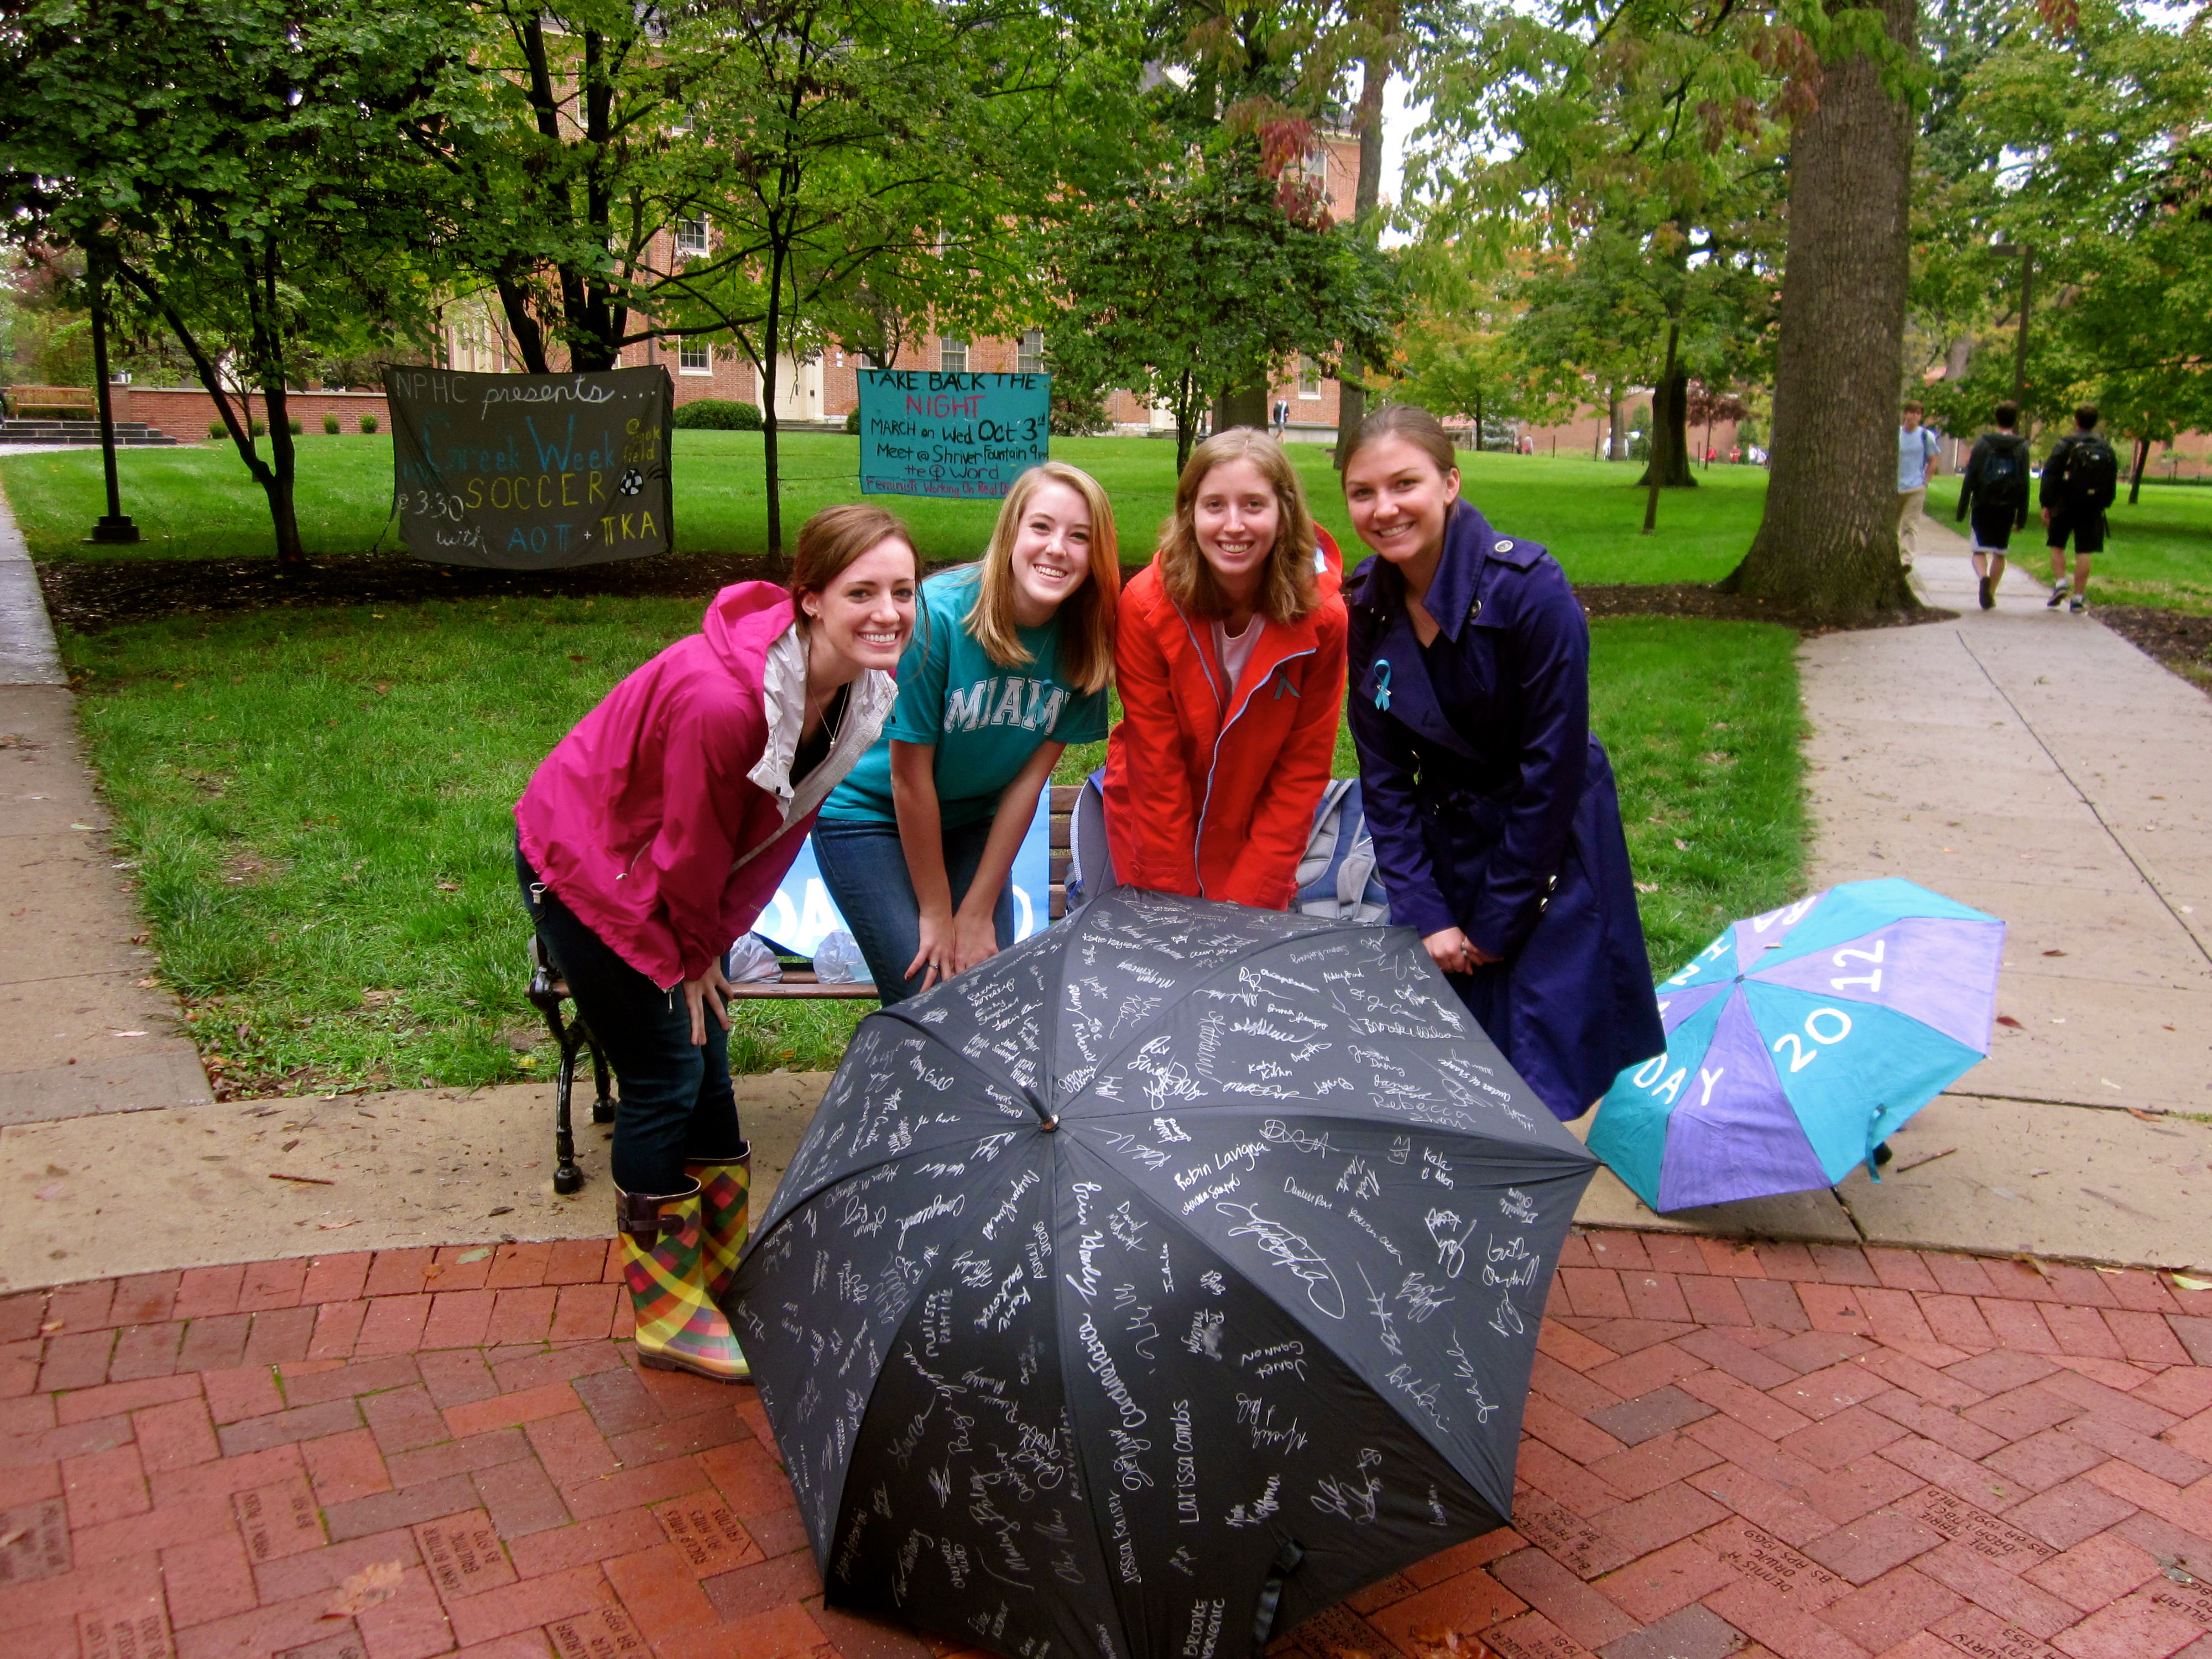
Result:
{"label": "thick trunk of the large tree beside the right-hand path", "polygon": [[[1876,9],[1909,49],[1916,0]],[[1893,436],[1913,122],[1863,53],[1825,69],[1820,106],[1790,142],[1767,507],[1721,588],[1849,619],[1918,604],[1898,560]]]}

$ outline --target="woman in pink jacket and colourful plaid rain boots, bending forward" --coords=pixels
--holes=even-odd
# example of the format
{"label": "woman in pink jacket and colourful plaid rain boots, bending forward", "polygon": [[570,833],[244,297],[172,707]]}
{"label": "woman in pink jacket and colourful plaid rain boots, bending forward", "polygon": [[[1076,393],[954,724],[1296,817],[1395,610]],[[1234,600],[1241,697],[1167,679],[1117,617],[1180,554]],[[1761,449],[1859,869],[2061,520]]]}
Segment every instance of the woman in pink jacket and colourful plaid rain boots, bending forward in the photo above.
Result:
{"label": "woman in pink jacket and colourful plaid rain boots, bending forward", "polygon": [[721,960],[876,741],[914,630],[914,538],[880,507],[799,531],[792,586],[739,582],[575,723],[515,803],[531,925],[622,1082],[615,1225],[637,1358],[750,1376],[721,1301],[752,1148]]}

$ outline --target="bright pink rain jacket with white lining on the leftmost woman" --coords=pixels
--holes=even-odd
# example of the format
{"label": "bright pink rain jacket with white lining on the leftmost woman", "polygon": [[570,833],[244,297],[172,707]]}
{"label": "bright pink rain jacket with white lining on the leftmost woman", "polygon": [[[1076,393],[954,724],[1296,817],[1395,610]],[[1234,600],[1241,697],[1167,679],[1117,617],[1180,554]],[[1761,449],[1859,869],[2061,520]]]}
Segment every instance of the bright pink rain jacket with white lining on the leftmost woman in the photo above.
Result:
{"label": "bright pink rain jacket with white lining on the leftmost woman", "polygon": [[889,675],[854,681],[834,750],[794,799],[794,615],[774,582],[717,593],[703,633],[615,686],[515,803],[540,880],[661,989],[697,980],[752,927],[896,695]]}

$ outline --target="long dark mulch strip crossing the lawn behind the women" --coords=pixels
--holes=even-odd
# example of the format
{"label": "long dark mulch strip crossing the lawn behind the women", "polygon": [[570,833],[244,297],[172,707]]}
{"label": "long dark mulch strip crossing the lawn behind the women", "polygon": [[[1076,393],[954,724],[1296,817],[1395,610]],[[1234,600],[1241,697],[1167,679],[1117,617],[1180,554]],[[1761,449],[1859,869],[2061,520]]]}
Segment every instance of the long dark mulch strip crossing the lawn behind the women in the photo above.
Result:
{"label": "long dark mulch strip crossing the lawn behind the women", "polygon": [[[177,615],[226,615],[290,606],[422,604],[425,599],[491,597],[706,597],[730,582],[783,582],[790,560],[726,553],[661,553],[619,564],[571,571],[478,571],[422,564],[403,553],[321,557],[279,575],[276,562],[254,560],[55,560],[38,566],[46,611],[55,626],[97,633],[126,622]],[[1717,593],[1697,582],[1606,584],[1577,588],[1593,617],[1703,617],[1714,622],[1778,622],[1798,633],[1834,633],[1790,606]],[[2121,613],[2104,611],[2108,622]],[[2163,613],[2130,613],[2163,615]],[[1951,622],[1953,611],[1878,611],[1858,626],[1898,628]],[[2205,622],[2197,617],[2194,622]],[[2119,624],[2115,624],[2119,626]],[[2126,628],[2121,628],[2126,633]],[[2128,635],[2135,639],[2135,635]],[[2141,641],[2137,641],[2141,644]],[[2150,650],[2150,646],[2143,646]]]}

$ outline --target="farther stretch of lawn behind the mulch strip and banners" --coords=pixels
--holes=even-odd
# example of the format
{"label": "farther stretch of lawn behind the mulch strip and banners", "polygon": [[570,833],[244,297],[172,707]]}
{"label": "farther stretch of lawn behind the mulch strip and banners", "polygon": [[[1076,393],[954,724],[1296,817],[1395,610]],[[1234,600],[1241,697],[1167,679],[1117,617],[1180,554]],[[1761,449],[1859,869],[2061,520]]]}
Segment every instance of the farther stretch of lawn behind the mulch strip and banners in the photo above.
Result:
{"label": "farther stretch of lawn behind the mulch strip and banners", "polygon": [[[1321,445],[1292,445],[1314,511],[1354,553],[1343,495]],[[314,555],[396,546],[392,438],[299,438],[301,538]],[[858,491],[860,440],[832,434],[783,436],[783,522],[790,538],[807,513]],[[1115,500],[1124,562],[1150,557],[1152,535],[1175,493],[1175,445],[1157,438],[1062,438],[1053,453],[1093,471]],[[100,456],[0,456],[0,484],[31,553],[64,557],[237,557],[270,553],[268,504],[228,445],[126,449],[119,458],[124,511],[146,542],[88,549],[84,531],[104,511]],[[1637,467],[1548,456],[1473,456],[1462,462],[1467,491],[1513,535],[1528,535],[1559,557],[1577,582],[1712,582],[1734,568],[1759,526],[1767,476],[1759,467],[1701,471],[1703,489],[1659,502],[1659,533],[1641,535]],[[675,434],[677,546],[692,553],[763,553],[768,507],[761,487],[761,436],[750,431]],[[916,529],[922,553],[967,560],[982,551],[993,502],[889,502]]]}

